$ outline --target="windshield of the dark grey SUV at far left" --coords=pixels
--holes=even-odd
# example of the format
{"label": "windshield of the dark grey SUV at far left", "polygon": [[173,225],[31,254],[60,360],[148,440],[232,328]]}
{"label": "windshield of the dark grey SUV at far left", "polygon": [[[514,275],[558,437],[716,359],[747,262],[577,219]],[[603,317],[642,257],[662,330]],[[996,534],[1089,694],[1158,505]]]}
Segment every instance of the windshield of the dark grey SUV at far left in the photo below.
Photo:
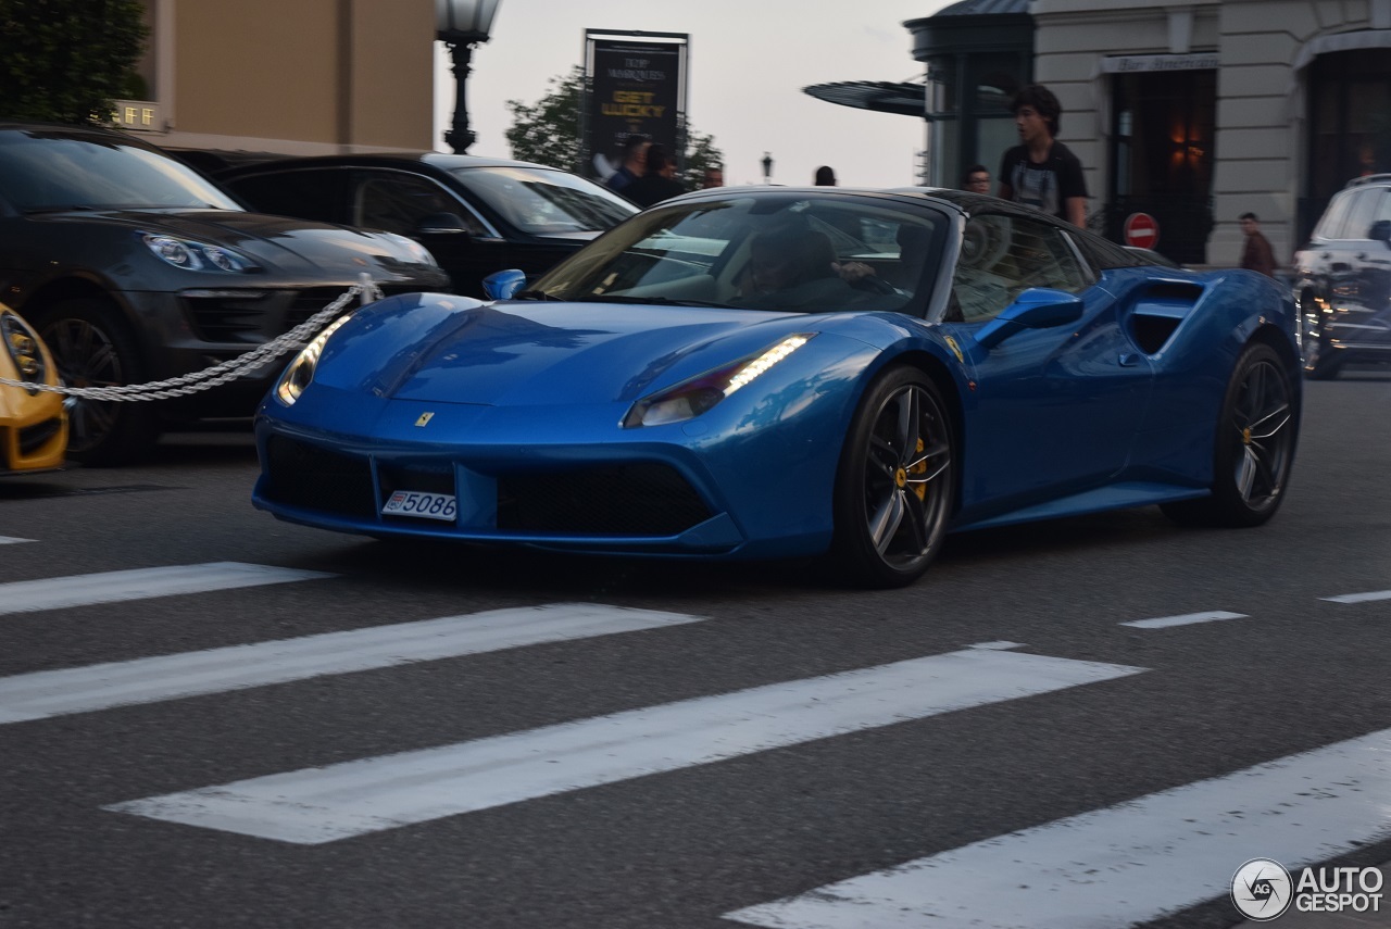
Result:
{"label": "windshield of the dark grey SUV at far left", "polygon": [[17,210],[241,210],[167,154],[120,136],[0,134],[0,195]]}

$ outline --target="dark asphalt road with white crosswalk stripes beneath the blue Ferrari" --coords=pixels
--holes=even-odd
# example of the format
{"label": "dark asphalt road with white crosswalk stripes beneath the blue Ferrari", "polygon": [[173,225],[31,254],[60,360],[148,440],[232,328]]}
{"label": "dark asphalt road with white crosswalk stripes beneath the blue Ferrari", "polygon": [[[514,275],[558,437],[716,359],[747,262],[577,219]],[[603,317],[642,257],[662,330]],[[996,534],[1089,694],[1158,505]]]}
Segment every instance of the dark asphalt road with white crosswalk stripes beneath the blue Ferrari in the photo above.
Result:
{"label": "dark asphalt road with white crosswalk stripes beneath the blue Ferrari", "polygon": [[1234,925],[1251,858],[1391,858],[1341,766],[1391,754],[1391,599],[1348,597],[1391,588],[1388,409],[1309,384],[1266,527],[992,530],[882,592],[278,523],[235,430],[6,478],[0,926]]}

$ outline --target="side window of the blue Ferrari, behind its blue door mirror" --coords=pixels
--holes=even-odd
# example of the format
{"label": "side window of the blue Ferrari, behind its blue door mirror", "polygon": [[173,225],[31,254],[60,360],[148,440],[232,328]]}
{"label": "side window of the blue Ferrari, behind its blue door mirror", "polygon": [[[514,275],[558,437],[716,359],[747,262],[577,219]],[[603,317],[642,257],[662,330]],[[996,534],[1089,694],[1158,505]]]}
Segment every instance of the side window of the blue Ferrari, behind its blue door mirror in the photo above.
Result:
{"label": "side window of the blue Ferrari, behind its blue door mirror", "polygon": [[993,318],[1031,286],[1077,293],[1086,284],[1086,271],[1057,227],[992,213],[967,220],[951,278],[961,320]]}

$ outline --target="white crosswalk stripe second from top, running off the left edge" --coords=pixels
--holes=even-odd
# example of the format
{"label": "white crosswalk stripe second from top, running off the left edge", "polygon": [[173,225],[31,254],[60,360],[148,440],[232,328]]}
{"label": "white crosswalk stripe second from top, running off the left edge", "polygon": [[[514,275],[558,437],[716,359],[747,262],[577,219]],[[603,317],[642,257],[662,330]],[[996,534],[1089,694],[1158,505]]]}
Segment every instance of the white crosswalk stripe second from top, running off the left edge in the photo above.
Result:
{"label": "white crosswalk stripe second from top, running off the left edge", "polygon": [[600,604],[549,604],[45,670],[0,677],[0,725],[700,619]]}

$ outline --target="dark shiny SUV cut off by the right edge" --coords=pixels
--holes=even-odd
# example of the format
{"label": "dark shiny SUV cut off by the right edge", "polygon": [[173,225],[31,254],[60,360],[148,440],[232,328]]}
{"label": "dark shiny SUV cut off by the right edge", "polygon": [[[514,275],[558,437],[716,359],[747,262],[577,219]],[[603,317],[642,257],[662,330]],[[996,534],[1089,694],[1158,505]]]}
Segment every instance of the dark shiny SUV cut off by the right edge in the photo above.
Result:
{"label": "dark shiny SUV cut off by the right edge", "polygon": [[1348,182],[1295,252],[1305,374],[1391,362],[1391,174]]}

